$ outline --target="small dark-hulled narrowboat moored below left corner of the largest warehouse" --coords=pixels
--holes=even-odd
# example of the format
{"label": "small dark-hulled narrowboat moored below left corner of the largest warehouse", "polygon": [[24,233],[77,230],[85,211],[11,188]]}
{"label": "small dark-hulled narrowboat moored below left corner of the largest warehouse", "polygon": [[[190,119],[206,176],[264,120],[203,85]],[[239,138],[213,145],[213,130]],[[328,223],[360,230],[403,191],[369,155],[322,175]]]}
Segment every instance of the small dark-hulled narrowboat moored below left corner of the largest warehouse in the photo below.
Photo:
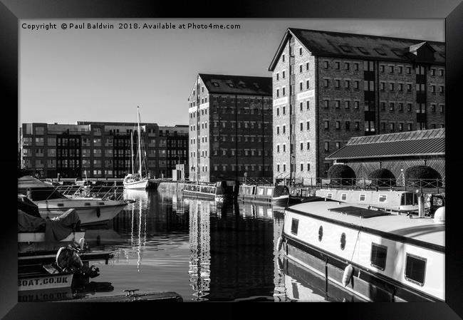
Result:
{"label": "small dark-hulled narrowboat moored below left corner of the largest warehouse", "polygon": [[286,185],[240,185],[238,200],[285,205],[289,190]]}

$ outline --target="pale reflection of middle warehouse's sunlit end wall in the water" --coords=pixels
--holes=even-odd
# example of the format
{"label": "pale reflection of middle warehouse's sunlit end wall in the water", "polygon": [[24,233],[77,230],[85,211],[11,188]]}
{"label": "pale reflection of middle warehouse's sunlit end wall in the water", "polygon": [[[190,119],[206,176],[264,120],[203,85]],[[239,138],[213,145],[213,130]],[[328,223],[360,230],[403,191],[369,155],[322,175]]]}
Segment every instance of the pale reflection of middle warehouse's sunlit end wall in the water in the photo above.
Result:
{"label": "pale reflection of middle warehouse's sunlit end wall in the water", "polygon": [[210,201],[186,200],[189,203],[189,284],[193,301],[205,301],[211,282]]}

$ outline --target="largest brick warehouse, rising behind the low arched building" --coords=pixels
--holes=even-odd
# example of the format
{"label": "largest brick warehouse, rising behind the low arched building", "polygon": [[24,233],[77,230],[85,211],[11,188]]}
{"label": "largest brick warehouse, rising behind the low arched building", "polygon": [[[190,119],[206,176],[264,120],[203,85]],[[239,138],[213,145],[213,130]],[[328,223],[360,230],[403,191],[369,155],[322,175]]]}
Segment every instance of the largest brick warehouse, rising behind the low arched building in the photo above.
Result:
{"label": "largest brick warehouse, rising behind the low arched building", "polygon": [[269,71],[274,177],[326,177],[349,138],[444,128],[444,43],[287,29]]}

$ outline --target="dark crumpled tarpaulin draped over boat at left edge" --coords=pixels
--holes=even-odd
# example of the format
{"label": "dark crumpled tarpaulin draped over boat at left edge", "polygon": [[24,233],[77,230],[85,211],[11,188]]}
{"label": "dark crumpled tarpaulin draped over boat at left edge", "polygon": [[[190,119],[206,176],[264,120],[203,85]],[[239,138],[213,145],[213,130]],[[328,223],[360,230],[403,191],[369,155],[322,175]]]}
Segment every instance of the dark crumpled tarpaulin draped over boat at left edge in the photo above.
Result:
{"label": "dark crumpled tarpaulin draped over boat at left edge", "polygon": [[33,217],[18,210],[18,232],[45,232],[46,242],[58,242],[68,237],[80,224],[79,216],[70,209],[55,219]]}

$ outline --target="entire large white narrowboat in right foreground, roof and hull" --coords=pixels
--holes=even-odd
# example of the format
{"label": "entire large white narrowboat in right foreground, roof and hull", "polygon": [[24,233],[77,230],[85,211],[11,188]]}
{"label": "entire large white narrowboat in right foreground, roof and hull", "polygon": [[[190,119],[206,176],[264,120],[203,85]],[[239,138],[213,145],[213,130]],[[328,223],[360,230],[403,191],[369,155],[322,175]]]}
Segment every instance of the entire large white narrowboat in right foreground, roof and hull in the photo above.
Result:
{"label": "entire large white narrowboat in right foreground, roof and hull", "polygon": [[276,245],[287,259],[366,301],[444,301],[444,221],[444,207],[425,217],[306,202],[285,210]]}

